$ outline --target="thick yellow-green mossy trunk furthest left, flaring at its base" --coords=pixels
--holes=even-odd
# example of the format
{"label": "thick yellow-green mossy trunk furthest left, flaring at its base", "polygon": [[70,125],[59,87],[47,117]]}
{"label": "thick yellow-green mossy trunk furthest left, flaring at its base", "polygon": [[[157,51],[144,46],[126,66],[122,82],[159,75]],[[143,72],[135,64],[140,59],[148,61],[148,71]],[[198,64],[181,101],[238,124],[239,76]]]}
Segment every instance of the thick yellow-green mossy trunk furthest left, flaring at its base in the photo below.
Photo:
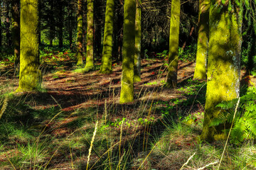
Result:
{"label": "thick yellow-green mossy trunk furthest left, flaring at its base", "polygon": [[21,0],[21,67],[17,91],[41,87],[38,41],[38,0]]}

